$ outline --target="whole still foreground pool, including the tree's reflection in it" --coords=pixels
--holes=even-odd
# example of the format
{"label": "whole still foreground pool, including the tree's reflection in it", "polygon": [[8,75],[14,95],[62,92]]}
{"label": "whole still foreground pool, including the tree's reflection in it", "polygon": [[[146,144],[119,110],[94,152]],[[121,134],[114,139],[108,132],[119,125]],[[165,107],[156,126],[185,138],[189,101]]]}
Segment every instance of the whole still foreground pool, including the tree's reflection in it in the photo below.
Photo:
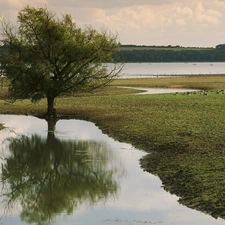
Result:
{"label": "whole still foreground pool, including the tree's reflection in it", "polygon": [[93,123],[59,120],[55,133],[31,116],[0,123],[0,224],[224,224],[178,204],[140,168],[146,153]]}

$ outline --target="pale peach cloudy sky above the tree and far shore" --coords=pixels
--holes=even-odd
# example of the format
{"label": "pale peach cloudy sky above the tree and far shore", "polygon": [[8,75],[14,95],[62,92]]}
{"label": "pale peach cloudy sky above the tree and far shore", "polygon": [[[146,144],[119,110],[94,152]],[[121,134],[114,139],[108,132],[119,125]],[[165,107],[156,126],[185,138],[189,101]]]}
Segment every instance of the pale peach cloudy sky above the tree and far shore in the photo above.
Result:
{"label": "pale peach cloudy sky above the tree and far shore", "polygon": [[215,47],[225,43],[225,0],[0,0],[0,18],[25,6],[70,14],[77,26],[118,35],[121,44]]}

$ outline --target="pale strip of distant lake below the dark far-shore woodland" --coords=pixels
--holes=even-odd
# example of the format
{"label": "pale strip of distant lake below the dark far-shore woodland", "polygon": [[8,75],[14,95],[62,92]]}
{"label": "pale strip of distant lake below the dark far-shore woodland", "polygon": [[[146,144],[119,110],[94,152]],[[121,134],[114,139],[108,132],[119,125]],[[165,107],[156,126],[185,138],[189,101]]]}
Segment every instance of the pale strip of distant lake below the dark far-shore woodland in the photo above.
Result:
{"label": "pale strip of distant lake below the dark far-shore woodland", "polygon": [[125,63],[121,78],[154,78],[161,76],[218,74],[225,74],[224,62]]}

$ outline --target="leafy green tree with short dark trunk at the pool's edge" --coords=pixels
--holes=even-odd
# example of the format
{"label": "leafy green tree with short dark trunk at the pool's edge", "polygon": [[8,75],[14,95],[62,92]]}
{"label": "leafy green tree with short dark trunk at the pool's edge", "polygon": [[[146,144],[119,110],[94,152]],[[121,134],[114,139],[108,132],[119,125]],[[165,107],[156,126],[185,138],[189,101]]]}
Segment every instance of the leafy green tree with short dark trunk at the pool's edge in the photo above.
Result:
{"label": "leafy green tree with short dark trunk at the pool's edge", "polygon": [[47,8],[25,7],[18,27],[2,22],[1,44],[8,47],[0,64],[10,80],[12,100],[47,98],[48,117],[55,117],[55,98],[71,92],[89,92],[107,85],[122,66],[110,70],[118,48],[117,36],[77,27],[70,15],[61,19]]}

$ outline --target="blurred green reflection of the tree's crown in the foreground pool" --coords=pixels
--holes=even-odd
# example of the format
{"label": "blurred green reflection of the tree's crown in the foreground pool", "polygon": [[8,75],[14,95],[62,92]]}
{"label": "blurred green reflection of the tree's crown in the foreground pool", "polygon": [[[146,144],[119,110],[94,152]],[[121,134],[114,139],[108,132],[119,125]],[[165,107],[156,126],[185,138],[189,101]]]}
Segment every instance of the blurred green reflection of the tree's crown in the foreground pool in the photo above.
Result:
{"label": "blurred green reflection of the tree's crown in the foreground pool", "polygon": [[6,207],[19,203],[28,224],[51,224],[58,214],[72,214],[80,204],[95,204],[118,191],[121,168],[109,163],[105,143],[60,140],[33,134],[10,138],[2,164]]}

